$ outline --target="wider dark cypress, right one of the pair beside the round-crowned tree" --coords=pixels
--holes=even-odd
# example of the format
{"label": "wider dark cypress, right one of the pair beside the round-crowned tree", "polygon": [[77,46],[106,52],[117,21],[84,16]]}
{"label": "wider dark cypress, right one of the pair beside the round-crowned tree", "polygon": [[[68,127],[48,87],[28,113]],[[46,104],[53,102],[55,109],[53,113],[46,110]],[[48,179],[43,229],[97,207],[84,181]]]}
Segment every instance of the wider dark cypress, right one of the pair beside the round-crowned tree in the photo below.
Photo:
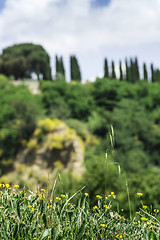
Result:
{"label": "wider dark cypress, right one of the pair beside the round-crowned tree", "polygon": [[81,72],[77,58],[75,56],[70,56],[70,70],[71,70],[71,80],[81,81]]}

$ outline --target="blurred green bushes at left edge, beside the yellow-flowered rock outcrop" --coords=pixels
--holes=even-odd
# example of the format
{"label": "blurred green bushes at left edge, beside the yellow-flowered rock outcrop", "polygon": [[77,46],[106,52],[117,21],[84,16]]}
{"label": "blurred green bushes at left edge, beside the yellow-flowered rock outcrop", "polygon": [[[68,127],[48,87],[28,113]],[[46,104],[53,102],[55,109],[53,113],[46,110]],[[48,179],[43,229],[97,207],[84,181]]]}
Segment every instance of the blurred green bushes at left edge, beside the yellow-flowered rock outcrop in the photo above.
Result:
{"label": "blurred green bushes at left edge, beside the yellow-flowered rock outcrop", "polygon": [[30,137],[42,108],[39,97],[27,87],[15,87],[8,81],[0,81],[0,96],[0,158],[8,158],[21,148],[21,139]]}

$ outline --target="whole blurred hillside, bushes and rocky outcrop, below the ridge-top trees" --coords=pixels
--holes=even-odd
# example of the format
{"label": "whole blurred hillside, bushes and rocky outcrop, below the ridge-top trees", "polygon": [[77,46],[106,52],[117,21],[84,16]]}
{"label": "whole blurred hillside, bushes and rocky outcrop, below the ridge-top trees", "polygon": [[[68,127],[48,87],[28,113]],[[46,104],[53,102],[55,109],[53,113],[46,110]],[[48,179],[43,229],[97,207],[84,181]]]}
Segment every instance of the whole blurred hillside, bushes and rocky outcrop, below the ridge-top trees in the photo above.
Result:
{"label": "whole blurred hillside, bushes and rocky outcrop, below the ridge-top trees", "polygon": [[[86,84],[41,80],[39,86],[33,95],[24,84],[0,79],[1,182],[23,186],[30,179],[29,188],[47,186],[48,173],[51,184],[60,173],[57,192],[63,188],[72,194],[86,186],[94,199],[114,191],[126,215],[127,182],[133,211],[139,206],[137,192],[143,192],[144,204],[159,208],[159,83],[103,78]],[[66,133],[43,132],[41,121],[57,121]]]}

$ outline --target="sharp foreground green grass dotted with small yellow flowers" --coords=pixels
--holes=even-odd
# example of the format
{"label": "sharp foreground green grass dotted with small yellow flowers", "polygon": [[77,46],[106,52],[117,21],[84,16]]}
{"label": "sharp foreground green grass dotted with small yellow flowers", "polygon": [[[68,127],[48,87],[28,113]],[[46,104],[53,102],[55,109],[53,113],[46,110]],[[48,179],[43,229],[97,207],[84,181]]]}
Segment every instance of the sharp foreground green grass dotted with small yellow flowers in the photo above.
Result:
{"label": "sharp foreground green grass dotted with small yellow flowers", "polygon": [[[77,204],[72,198],[78,196]],[[50,199],[52,197],[52,199]],[[35,193],[0,184],[0,239],[160,239],[158,209],[143,206],[133,219],[116,209],[116,195],[95,196],[91,206],[84,189],[73,196],[54,196],[41,189]],[[142,202],[142,193],[137,194]]]}

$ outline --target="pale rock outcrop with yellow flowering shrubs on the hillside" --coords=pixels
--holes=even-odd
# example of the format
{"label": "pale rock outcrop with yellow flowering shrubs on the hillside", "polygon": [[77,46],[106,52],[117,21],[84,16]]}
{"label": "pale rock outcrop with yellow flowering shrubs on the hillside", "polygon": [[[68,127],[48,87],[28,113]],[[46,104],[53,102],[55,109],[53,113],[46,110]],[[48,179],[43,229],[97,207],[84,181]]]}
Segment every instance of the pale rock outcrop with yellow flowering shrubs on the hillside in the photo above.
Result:
{"label": "pale rock outcrop with yellow flowering shrubs on the hillside", "polygon": [[32,137],[29,141],[23,139],[22,145],[23,150],[14,161],[14,171],[4,176],[8,178],[4,182],[11,183],[19,179],[18,182],[32,185],[35,184],[35,179],[39,183],[47,182],[48,176],[53,179],[58,168],[66,172],[72,171],[78,177],[85,170],[81,137],[58,119],[40,120]]}

